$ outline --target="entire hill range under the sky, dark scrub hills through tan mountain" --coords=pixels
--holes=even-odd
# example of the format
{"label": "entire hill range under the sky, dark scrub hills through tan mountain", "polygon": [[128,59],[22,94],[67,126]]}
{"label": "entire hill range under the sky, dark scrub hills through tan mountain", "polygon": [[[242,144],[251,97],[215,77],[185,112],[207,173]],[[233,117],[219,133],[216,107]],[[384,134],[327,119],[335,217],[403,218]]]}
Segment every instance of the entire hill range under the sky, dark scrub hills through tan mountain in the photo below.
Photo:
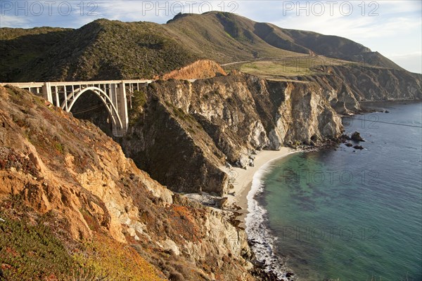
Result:
{"label": "entire hill range under the sky, dark scrub hills through tan mountain", "polygon": [[349,39],[220,12],[177,15],[165,25],[96,20],[77,30],[2,28],[0,50],[0,81],[153,78],[198,59],[224,64],[309,55],[401,70]]}

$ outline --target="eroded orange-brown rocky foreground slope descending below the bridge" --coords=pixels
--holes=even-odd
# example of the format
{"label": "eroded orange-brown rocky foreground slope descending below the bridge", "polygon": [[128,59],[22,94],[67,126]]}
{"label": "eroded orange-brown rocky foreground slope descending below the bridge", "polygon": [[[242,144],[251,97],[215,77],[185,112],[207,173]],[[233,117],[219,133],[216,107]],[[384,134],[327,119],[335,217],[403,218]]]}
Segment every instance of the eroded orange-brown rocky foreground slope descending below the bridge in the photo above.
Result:
{"label": "eroded orange-brown rocky foreground slope descending below the bridge", "polygon": [[[167,108],[159,99],[149,106],[158,112]],[[168,126],[179,140],[188,140],[187,133],[177,130],[173,114],[162,116],[153,129]],[[0,87],[0,137],[0,217],[6,218],[1,237],[11,237],[8,228],[23,216],[29,220],[25,228],[61,221],[51,231],[63,240],[68,268],[102,268],[113,280],[253,280],[243,230],[222,211],[190,202],[153,181],[93,124],[27,91]],[[16,197],[19,203],[13,205]],[[38,249],[7,241],[0,239],[1,274],[18,279],[27,265],[16,263],[17,253],[34,257]],[[104,241],[113,259],[110,253],[100,254]],[[118,246],[125,244],[131,247]],[[133,256],[138,263],[129,261]],[[114,270],[110,265],[115,263]],[[72,277],[37,264],[27,274],[43,280]]]}

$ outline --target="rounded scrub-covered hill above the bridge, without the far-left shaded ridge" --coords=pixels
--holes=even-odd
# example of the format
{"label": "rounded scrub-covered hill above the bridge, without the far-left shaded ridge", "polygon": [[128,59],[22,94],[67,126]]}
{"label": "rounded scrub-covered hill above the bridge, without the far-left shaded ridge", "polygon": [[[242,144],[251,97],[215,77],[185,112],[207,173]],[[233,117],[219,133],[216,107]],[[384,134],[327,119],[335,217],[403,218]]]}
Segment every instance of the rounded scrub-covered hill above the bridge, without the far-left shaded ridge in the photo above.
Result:
{"label": "rounded scrub-covered hill above the bridge, without the far-left shaded ridge", "polygon": [[[4,44],[1,41],[0,46]],[[29,60],[20,81],[153,77],[196,59],[167,32],[150,22],[96,20],[68,31],[51,48]],[[3,77],[2,77],[3,78]]]}

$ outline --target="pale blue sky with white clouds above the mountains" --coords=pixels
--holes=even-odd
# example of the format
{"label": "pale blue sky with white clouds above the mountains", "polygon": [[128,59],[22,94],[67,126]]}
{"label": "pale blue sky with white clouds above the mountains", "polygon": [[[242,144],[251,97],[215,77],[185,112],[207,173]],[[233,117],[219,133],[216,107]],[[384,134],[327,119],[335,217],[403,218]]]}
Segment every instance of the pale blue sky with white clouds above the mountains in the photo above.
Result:
{"label": "pale blue sky with white clouds above the mountains", "polygon": [[422,73],[422,1],[0,0],[0,27],[79,28],[98,18],[165,23],[179,12],[226,11],[283,28],[338,35]]}

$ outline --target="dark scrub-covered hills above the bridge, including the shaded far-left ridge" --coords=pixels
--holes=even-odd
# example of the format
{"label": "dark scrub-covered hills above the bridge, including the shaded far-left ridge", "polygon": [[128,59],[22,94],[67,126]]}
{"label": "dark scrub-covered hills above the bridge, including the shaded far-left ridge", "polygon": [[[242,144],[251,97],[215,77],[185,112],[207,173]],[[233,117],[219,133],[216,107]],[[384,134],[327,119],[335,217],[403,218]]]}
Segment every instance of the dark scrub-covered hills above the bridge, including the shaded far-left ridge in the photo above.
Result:
{"label": "dark scrub-covered hills above the bridge, including the shaded far-left ridge", "polygon": [[198,58],[152,22],[102,19],[78,30],[32,29],[30,35],[0,30],[0,58],[9,65],[0,81],[153,78]]}

